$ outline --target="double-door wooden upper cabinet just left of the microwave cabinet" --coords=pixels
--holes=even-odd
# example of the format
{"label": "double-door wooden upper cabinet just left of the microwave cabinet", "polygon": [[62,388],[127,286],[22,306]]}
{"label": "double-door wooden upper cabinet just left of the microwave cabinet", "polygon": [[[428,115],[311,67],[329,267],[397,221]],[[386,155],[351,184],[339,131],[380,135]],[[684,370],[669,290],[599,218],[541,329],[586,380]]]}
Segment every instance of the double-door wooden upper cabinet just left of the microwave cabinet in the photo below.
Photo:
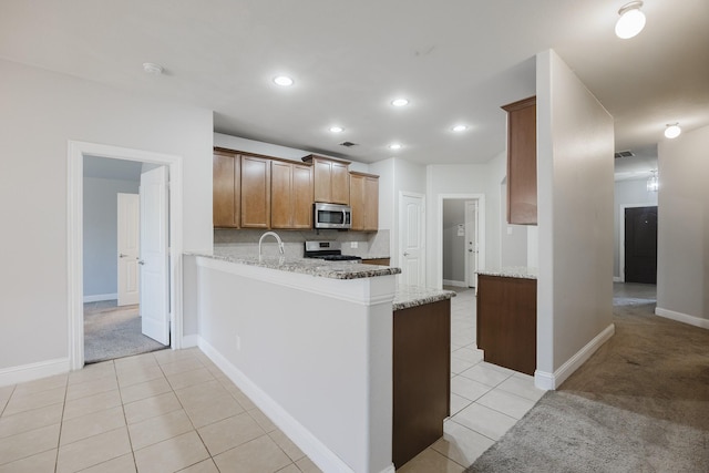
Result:
{"label": "double-door wooden upper cabinet just left of the microwave cabinet", "polygon": [[271,161],[271,228],[312,227],[312,166]]}

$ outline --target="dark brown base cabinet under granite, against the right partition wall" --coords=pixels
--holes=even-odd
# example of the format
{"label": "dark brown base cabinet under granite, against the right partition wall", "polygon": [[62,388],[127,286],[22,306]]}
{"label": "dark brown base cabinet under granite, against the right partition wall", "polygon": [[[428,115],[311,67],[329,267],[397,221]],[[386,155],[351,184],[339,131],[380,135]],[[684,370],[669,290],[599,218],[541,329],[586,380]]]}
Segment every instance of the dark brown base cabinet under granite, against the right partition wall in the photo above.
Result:
{"label": "dark brown base cabinet under granite, against the right partition wall", "polygon": [[477,348],[485,361],[536,370],[536,279],[477,275]]}

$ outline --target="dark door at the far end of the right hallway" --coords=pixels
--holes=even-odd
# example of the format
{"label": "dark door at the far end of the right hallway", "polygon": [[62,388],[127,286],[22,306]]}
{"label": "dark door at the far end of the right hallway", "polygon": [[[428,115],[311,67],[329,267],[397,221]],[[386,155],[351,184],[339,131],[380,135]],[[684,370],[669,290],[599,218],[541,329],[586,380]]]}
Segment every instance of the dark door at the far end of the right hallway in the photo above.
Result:
{"label": "dark door at the far end of the right hallway", "polygon": [[657,284],[657,206],[626,207],[624,220],[624,281]]}

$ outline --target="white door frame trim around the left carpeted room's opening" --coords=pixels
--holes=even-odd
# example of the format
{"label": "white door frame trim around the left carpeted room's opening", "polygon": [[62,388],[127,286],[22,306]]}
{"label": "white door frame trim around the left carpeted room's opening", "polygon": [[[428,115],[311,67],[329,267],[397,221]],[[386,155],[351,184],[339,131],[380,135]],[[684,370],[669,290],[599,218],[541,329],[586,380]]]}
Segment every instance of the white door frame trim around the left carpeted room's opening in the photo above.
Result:
{"label": "white door frame trim around the left carpeted room's opening", "polygon": [[168,245],[169,245],[169,307],[171,347],[182,347],[182,156],[143,150],[103,145],[69,140],[66,241],[68,241],[68,315],[69,315],[69,368],[80,370],[84,366],[84,308],[83,308],[83,163],[84,156],[137,161],[168,167]]}

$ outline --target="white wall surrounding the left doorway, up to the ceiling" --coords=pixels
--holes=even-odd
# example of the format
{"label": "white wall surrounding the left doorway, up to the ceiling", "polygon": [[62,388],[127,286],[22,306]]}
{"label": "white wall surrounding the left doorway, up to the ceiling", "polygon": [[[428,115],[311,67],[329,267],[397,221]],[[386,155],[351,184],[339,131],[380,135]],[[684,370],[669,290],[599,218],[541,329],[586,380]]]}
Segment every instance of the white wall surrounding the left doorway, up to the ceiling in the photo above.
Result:
{"label": "white wall surrounding the left doorway, up to the ceiling", "polygon": [[179,155],[183,245],[212,249],[212,112],[0,61],[0,373],[65,360],[68,141]]}

